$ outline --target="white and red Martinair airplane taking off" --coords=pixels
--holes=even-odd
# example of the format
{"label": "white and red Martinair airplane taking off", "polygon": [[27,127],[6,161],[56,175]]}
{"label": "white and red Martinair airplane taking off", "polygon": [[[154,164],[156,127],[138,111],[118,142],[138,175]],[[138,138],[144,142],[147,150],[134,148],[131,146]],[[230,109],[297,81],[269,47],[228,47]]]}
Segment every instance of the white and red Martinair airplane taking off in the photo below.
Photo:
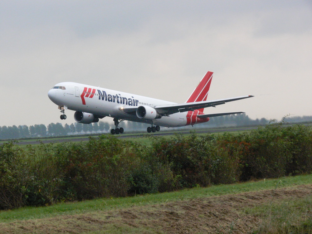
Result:
{"label": "white and red Martinair airplane taking off", "polygon": [[251,98],[253,95],[207,101],[213,72],[208,71],[185,103],[174,103],[135,94],[100,88],[75,82],[61,82],[52,87],[48,97],[61,110],[61,119],[66,119],[65,110],[74,110],[78,123],[99,122],[112,117],[115,129],[111,134],[123,133],[118,127],[124,120],[151,124],[147,132],[156,132],[163,127],[181,127],[209,121],[210,117],[233,115],[244,112],[204,114],[204,108],[216,107],[227,102]]}

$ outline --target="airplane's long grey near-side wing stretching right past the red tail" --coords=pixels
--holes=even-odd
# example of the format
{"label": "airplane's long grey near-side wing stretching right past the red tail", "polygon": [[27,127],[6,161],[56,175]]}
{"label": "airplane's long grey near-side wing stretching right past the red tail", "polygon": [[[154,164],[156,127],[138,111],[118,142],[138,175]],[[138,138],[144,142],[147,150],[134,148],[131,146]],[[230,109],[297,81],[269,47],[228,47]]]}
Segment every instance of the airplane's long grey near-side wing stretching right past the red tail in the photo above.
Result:
{"label": "airplane's long grey near-side wing stretching right past the red tail", "polygon": [[[252,95],[227,98],[227,99],[219,99],[219,100],[211,100],[211,101],[200,101],[200,102],[188,102],[181,104],[170,104],[170,105],[158,105],[155,106],[155,110],[157,110],[162,115],[171,115],[177,112],[185,112],[185,111],[194,111],[197,109],[202,109],[206,107],[216,107],[217,105],[225,104],[226,102],[237,101],[245,98],[251,98]],[[235,113],[237,114],[237,113]],[[203,117],[205,118],[205,117]]]}

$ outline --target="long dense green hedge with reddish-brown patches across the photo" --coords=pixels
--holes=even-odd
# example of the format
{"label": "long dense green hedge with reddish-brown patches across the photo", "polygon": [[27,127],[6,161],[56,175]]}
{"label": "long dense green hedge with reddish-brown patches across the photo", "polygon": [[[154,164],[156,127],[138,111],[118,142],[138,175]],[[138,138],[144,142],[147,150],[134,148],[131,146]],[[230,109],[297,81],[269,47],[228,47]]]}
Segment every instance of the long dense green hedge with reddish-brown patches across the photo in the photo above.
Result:
{"label": "long dense green hedge with reddish-brown patches across the photo", "polygon": [[122,197],[311,173],[312,132],[268,124],[249,133],[170,139],[150,147],[115,137],[0,146],[0,209]]}

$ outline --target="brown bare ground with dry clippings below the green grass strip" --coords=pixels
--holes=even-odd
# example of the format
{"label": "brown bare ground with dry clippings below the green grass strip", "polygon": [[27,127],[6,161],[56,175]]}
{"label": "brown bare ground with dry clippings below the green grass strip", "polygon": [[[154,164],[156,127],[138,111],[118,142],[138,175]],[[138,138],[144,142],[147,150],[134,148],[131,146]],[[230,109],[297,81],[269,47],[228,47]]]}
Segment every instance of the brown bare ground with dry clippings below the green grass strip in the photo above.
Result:
{"label": "brown bare ground with dry clippings below the green grass strip", "polygon": [[246,208],[307,196],[312,184],[0,223],[0,233],[250,233],[263,221]]}

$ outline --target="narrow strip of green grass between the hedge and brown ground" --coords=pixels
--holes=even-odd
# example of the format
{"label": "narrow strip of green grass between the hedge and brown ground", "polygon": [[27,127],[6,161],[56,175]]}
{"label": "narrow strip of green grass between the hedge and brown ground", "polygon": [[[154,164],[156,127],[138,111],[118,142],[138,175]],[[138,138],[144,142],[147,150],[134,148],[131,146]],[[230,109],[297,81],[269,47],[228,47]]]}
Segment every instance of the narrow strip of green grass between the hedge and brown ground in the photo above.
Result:
{"label": "narrow strip of green grass between the hedge and brown ground", "polygon": [[246,182],[227,185],[215,185],[208,188],[192,188],[170,193],[146,194],[135,197],[102,198],[83,202],[64,202],[48,207],[24,207],[15,210],[1,211],[0,222],[40,219],[58,215],[81,214],[115,208],[127,208],[148,204],[189,200],[200,197],[220,196],[267,189],[293,187],[311,184],[312,175],[268,179],[257,182]]}

